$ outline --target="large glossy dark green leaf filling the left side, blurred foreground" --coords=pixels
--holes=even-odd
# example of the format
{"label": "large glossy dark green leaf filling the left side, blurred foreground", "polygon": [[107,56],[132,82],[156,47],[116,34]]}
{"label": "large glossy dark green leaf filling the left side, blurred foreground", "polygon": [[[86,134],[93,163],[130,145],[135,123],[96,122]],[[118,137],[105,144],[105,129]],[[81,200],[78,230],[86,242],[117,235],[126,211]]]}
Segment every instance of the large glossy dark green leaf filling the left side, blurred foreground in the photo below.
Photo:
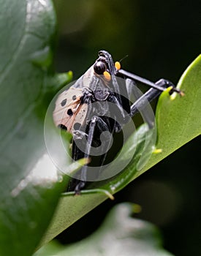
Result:
{"label": "large glossy dark green leaf filling the left side, blurred foreground", "polygon": [[67,184],[50,161],[43,124],[53,84],[67,83],[72,74],[52,71],[50,0],[0,0],[0,6],[0,255],[27,256]]}

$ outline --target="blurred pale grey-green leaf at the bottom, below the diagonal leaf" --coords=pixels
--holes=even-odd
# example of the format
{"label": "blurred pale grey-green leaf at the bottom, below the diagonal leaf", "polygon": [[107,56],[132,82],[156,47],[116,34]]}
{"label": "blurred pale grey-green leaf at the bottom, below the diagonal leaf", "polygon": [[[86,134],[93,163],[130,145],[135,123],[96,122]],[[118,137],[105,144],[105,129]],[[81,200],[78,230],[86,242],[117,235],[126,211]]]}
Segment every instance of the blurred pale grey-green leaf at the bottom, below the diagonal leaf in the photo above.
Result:
{"label": "blurred pale grey-green leaf at the bottom, below the diagonal leaf", "polygon": [[131,203],[115,206],[99,230],[88,238],[67,246],[51,242],[34,256],[172,255],[162,248],[159,230],[154,225],[131,217],[133,208]]}

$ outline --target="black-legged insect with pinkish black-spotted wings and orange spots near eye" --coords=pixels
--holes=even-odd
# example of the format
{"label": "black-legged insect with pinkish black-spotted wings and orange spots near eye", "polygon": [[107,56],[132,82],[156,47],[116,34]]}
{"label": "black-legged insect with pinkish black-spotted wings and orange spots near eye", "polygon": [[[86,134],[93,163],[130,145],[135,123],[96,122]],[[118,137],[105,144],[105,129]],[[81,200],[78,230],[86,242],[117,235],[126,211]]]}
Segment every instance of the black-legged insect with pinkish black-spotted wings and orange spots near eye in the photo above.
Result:
{"label": "black-legged insect with pinkish black-spotted wings and orange spots near eye", "polygon": [[[131,103],[131,94],[137,97],[137,82],[151,88]],[[119,62],[113,62],[110,53],[100,50],[98,59],[86,73],[58,96],[53,120],[56,127],[72,133],[72,158],[91,158],[91,162],[98,161],[101,170],[111,143],[108,134],[120,132],[129,118],[143,111],[148,102],[170,86],[171,93],[182,94],[169,80],[153,83],[121,69]],[[153,125],[149,118],[145,121],[150,127]],[[105,135],[101,138],[103,132]],[[91,157],[92,149],[99,152],[99,157]],[[86,186],[87,175],[88,165],[84,165],[80,180],[72,181],[70,190],[80,194]]]}

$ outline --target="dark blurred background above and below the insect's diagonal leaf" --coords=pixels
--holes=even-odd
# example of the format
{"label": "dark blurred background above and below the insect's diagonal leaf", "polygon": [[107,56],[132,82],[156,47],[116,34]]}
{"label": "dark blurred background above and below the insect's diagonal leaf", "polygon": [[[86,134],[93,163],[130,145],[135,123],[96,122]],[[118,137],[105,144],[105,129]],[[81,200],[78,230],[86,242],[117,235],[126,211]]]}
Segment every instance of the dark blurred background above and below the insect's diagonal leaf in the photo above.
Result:
{"label": "dark blurred background above and below the insect's diagonal leaf", "polygon": [[[55,0],[58,15],[56,70],[74,79],[94,63],[99,50],[150,80],[177,83],[200,54],[199,1]],[[101,224],[108,210],[129,201],[143,211],[136,217],[162,230],[164,247],[175,255],[201,255],[200,137],[148,170],[58,236],[78,241]]]}

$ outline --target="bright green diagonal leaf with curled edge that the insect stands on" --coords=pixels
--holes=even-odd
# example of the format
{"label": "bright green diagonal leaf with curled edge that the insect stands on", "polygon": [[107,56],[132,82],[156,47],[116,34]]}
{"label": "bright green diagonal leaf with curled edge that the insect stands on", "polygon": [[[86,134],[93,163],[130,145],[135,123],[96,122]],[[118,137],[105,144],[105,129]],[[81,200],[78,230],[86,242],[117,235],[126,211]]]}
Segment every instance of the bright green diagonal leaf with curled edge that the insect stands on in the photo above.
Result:
{"label": "bright green diagonal leaf with curled edge that the insect stands on", "polygon": [[[185,92],[184,97],[179,95],[176,97],[172,95],[170,97],[168,91],[164,91],[159,98],[156,110],[157,148],[162,148],[162,153],[156,154],[153,151],[154,140],[152,141],[150,138],[154,131],[148,130],[146,125],[140,127],[127,140],[123,147],[123,154],[118,159],[118,162],[115,163],[116,165],[121,165],[121,162],[124,162],[130,152],[134,151],[134,157],[129,165],[118,176],[107,180],[105,184],[95,183],[96,187],[102,189],[102,193],[98,189],[91,189],[88,191],[83,190],[82,195],[79,197],[75,197],[73,193],[67,193],[65,197],[62,197],[42,244],[50,241],[58,233],[61,233],[61,231],[72,225],[77,219],[107,199],[108,195],[104,195],[105,190],[110,194],[114,194],[129,184],[134,178],[140,176],[145,170],[148,170],[148,168],[155,165],[161,159],[167,157],[172,151],[200,135],[200,70],[201,57],[198,57],[186,69],[178,83],[178,87]],[[175,97],[175,99],[172,99],[172,97]],[[149,141],[148,144],[146,143],[147,139]],[[152,152],[151,159],[142,170],[139,170],[139,161],[141,161],[142,165],[142,162]]]}

